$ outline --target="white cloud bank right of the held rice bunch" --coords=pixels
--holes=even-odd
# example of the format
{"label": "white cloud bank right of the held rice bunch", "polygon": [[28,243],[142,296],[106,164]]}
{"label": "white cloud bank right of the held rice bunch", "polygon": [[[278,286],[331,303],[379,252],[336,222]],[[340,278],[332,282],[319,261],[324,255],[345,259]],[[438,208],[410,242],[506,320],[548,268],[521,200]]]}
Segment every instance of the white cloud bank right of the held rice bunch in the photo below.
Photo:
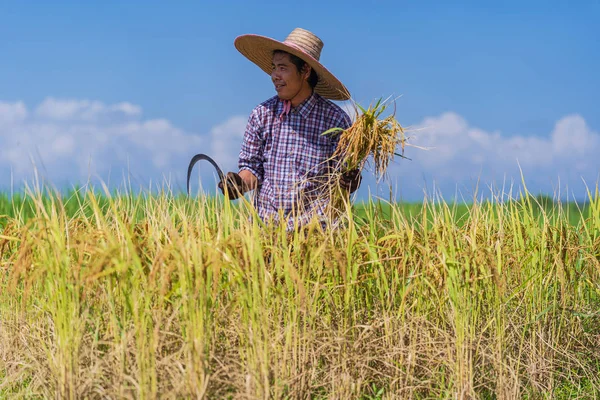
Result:
{"label": "white cloud bank right of the held rice bunch", "polygon": [[[568,185],[583,195],[584,179],[595,185],[600,169],[600,135],[580,115],[568,115],[547,136],[503,136],[471,126],[465,118],[446,112],[425,118],[410,132],[412,143],[429,147],[407,147],[405,155],[390,171],[408,191],[418,192],[424,181],[435,181],[442,192],[474,190],[482,184],[520,182],[521,170],[532,191],[552,192]],[[531,183],[531,186],[529,184]]]}

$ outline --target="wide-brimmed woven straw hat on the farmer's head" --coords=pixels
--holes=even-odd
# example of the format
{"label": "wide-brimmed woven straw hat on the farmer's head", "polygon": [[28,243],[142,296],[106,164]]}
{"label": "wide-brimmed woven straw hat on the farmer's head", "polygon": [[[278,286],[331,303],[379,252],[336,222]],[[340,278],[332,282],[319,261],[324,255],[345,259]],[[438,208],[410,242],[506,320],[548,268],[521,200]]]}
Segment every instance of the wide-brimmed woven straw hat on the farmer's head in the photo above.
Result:
{"label": "wide-brimmed woven straw hat on the farmer's head", "polygon": [[315,70],[319,77],[315,92],[331,100],[350,98],[350,92],[342,82],[319,62],[323,42],[312,32],[296,28],[283,42],[265,36],[242,35],[235,39],[234,45],[240,53],[269,75],[271,75],[273,51],[283,50],[300,57]]}

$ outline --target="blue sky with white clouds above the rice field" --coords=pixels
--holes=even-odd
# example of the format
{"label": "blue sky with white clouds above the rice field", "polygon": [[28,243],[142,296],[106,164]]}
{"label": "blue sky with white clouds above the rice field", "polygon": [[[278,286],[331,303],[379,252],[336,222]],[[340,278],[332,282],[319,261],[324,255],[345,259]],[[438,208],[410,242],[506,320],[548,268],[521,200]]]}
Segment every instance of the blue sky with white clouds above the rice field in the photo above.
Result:
{"label": "blue sky with white clouds above the rice field", "polygon": [[235,169],[274,90],[233,40],[302,27],[354,100],[401,96],[397,119],[430,148],[378,186],[367,172],[359,197],[469,197],[477,180],[518,183],[520,166],[531,191],[583,198],[600,171],[600,1],[498,3],[1,2],[0,188],[33,163],[57,186],[125,173],[182,187],[198,152]]}

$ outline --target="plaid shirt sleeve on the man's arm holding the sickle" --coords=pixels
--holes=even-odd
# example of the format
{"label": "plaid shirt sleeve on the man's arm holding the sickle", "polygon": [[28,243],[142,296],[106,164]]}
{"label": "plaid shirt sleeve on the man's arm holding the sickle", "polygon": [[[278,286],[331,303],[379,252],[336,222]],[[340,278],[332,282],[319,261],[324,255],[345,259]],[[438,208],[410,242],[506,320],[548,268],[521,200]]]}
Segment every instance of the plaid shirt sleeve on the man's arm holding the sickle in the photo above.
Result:
{"label": "plaid shirt sleeve on the man's arm holding the sickle", "polygon": [[254,110],[250,114],[250,118],[248,118],[238,166],[240,171],[247,170],[252,172],[256,179],[258,179],[259,184],[262,184],[264,178],[263,152],[265,141],[262,131],[262,124],[258,118],[257,110]]}

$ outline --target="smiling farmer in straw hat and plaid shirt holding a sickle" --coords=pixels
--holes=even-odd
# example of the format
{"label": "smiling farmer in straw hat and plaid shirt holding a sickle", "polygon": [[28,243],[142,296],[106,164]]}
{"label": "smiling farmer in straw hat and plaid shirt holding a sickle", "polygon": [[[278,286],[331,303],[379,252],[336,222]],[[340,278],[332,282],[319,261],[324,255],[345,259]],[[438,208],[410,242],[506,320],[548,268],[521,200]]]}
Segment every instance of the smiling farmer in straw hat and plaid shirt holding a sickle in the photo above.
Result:
{"label": "smiling farmer in straw hat and plaid shirt holding a sickle", "polygon": [[[313,217],[328,218],[332,160],[348,114],[333,102],[347,100],[346,87],[319,62],[323,42],[296,28],[283,41],[258,35],[236,38],[235,47],[271,75],[277,95],[258,105],[246,126],[239,156],[239,173],[229,172],[219,187],[236,199],[256,190],[255,206],[265,221],[285,219],[288,229]],[[358,170],[342,175],[339,184],[350,193],[360,185]],[[337,184],[337,182],[333,182]]]}

